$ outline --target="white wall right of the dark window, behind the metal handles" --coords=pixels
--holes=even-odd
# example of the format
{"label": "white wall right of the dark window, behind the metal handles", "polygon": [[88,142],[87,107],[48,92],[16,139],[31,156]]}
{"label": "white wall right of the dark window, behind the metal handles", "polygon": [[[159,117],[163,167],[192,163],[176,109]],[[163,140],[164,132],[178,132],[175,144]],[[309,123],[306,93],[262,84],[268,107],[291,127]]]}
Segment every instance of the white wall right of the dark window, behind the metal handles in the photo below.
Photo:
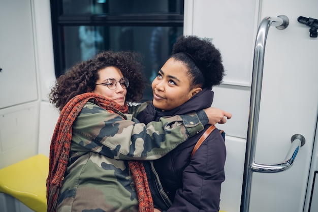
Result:
{"label": "white wall right of the dark window, behind the metal handles", "polygon": [[[253,174],[249,211],[301,212],[318,112],[318,72],[314,63],[318,39],[309,38],[309,27],[300,24],[297,18],[318,18],[318,2],[261,2],[261,19],[264,16],[276,17],[283,14],[290,18],[290,25],[284,31],[271,27],[267,39],[256,162],[282,161],[291,145],[293,134],[304,135],[306,144],[301,147],[291,169],[276,174]],[[259,3],[200,0],[193,1],[193,4],[193,24],[188,25],[191,24],[190,21],[185,23],[188,32],[185,34],[213,38],[213,43],[224,57],[228,74],[224,84],[213,88],[215,99],[212,106],[232,112],[233,118],[226,125],[218,125],[218,128],[225,129],[231,136],[246,138],[249,89],[244,90],[233,84],[248,86],[250,83],[252,53],[258,27],[255,22],[259,17],[258,14],[251,13],[255,13],[252,7],[258,9]],[[187,11],[189,9],[185,13]],[[234,182],[241,186],[242,181],[235,175],[232,178],[233,173],[229,171],[236,168],[236,155],[232,146],[235,148],[237,143],[228,143],[227,179],[222,186],[220,209],[236,212],[239,211],[240,193],[233,193],[229,188]],[[318,156],[314,157],[317,161]]]}

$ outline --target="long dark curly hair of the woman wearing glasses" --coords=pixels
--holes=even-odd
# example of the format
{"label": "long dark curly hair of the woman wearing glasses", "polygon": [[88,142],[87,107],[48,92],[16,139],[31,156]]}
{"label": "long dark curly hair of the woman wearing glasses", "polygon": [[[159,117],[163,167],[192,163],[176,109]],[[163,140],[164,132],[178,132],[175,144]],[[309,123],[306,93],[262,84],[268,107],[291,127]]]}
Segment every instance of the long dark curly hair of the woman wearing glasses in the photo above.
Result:
{"label": "long dark curly hair of the woman wearing glasses", "polygon": [[74,65],[58,77],[49,94],[50,102],[62,110],[73,97],[92,92],[99,79],[98,71],[110,66],[118,68],[130,82],[126,101],[138,102],[143,96],[146,82],[141,60],[142,55],[137,52],[103,51],[92,59]]}

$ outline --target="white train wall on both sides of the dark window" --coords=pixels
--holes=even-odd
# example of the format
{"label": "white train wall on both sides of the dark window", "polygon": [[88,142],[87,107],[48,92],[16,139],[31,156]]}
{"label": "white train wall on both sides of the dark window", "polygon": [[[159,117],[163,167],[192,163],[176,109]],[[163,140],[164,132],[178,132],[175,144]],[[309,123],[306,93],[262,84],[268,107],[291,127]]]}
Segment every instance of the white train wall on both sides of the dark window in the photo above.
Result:
{"label": "white train wall on both sides of the dark window", "polygon": [[[309,27],[297,21],[299,16],[318,18],[316,8],[315,0],[185,0],[184,34],[212,38],[227,70],[224,83],[213,88],[212,105],[233,114],[226,125],[218,126],[227,132],[222,210],[240,211],[253,48],[261,20],[278,15],[286,15],[290,24],[283,31],[271,27],[267,38],[256,161],[283,160],[296,133],[306,143],[291,169],[253,174],[250,211],[318,208],[309,204],[318,198],[318,189],[313,189],[318,170],[318,39],[310,38]],[[58,111],[47,98],[55,80],[49,0],[2,1],[0,20],[3,168],[38,153],[48,156]]]}

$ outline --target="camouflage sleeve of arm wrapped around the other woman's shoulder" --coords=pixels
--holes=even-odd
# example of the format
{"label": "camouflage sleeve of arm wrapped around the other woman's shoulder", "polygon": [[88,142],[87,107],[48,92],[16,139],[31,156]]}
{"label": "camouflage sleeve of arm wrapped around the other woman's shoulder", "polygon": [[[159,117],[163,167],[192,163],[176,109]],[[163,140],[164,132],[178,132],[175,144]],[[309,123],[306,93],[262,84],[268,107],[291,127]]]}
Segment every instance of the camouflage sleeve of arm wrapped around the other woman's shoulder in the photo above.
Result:
{"label": "camouflage sleeve of arm wrapped around the other woman's shoulder", "polygon": [[195,112],[145,126],[93,105],[78,115],[73,141],[110,158],[155,160],[203,129]]}

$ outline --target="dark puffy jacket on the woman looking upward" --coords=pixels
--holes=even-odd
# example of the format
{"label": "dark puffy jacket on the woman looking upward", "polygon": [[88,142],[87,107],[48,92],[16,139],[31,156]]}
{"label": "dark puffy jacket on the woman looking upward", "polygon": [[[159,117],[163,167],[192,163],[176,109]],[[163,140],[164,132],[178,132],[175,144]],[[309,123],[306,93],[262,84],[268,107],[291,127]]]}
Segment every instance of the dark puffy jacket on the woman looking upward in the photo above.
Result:
{"label": "dark puffy jacket on the woman looking upward", "polygon": [[[213,92],[204,89],[183,105],[170,111],[158,111],[150,104],[137,118],[140,122],[149,123],[162,116],[180,115],[210,107],[212,101]],[[207,125],[205,128],[208,127]],[[225,142],[218,130],[214,130],[190,158],[195,144],[203,133],[204,131],[180,144],[163,158],[153,161],[153,164],[145,162],[148,171],[152,166],[156,172],[147,173],[156,206],[165,210],[170,207],[167,210],[169,212],[219,210],[221,183],[225,180]],[[156,174],[161,184],[155,180]],[[160,191],[161,188],[164,193]]]}

